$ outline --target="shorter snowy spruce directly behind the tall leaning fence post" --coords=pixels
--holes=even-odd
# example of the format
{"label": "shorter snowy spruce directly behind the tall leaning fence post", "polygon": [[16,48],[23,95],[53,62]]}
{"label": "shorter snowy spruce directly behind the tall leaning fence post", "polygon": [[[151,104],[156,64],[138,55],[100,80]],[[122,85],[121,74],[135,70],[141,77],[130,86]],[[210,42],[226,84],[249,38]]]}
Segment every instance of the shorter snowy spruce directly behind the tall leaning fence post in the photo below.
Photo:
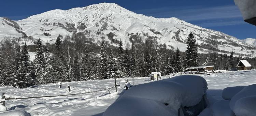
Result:
{"label": "shorter snowy spruce directly behind the tall leaning fence post", "polygon": [[109,51],[109,58],[108,58],[108,71],[107,71],[107,75],[108,78],[113,78],[112,73],[115,74],[115,59],[114,59],[114,55],[112,53],[112,49],[110,49]]}

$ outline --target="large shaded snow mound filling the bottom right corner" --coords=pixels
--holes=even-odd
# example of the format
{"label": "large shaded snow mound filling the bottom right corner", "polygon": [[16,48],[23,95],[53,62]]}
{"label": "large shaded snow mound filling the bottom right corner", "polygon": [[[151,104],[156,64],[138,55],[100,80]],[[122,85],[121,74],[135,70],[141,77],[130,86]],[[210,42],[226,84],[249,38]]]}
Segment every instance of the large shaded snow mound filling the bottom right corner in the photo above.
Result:
{"label": "large shaded snow mound filling the bottom right corner", "polygon": [[244,87],[229,104],[237,116],[256,116],[256,84]]}

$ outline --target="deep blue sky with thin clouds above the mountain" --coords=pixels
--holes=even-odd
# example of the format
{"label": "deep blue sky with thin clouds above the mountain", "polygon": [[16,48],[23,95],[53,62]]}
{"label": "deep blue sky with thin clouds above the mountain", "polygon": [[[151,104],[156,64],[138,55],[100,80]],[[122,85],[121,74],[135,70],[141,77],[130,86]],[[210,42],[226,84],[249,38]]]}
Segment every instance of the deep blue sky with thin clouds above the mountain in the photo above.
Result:
{"label": "deep blue sky with thin clouds above the mountain", "polygon": [[238,39],[256,38],[256,26],[243,21],[233,0],[1,0],[0,17],[19,20],[49,10],[68,10],[102,2],[117,3],[146,16],[176,17]]}

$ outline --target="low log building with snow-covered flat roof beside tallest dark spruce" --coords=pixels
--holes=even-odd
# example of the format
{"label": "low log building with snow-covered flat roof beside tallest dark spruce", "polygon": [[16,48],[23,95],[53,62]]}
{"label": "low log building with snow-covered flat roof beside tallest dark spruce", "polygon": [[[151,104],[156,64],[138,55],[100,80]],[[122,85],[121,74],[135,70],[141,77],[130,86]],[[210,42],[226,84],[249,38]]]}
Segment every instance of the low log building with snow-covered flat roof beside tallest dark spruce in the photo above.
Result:
{"label": "low log building with snow-covered flat roof beside tallest dark spruce", "polygon": [[205,70],[213,70],[214,66],[200,66],[200,67],[188,67],[187,70],[189,70],[191,73],[205,73]]}

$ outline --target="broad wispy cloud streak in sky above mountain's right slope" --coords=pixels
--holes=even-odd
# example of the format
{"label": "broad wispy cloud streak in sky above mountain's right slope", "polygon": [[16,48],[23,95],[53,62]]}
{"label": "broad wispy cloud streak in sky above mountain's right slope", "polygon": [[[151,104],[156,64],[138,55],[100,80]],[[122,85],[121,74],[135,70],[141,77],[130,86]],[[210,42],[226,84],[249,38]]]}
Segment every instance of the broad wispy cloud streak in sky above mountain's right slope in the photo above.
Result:
{"label": "broad wispy cloud streak in sky above mountain's right slope", "polygon": [[227,18],[241,18],[242,15],[235,5],[216,6],[201,8],[200,6],[189,6],[183,8],[159,8],[134,11],[147,16],[157,18],[177,17],[185,21],[213,20]]}

